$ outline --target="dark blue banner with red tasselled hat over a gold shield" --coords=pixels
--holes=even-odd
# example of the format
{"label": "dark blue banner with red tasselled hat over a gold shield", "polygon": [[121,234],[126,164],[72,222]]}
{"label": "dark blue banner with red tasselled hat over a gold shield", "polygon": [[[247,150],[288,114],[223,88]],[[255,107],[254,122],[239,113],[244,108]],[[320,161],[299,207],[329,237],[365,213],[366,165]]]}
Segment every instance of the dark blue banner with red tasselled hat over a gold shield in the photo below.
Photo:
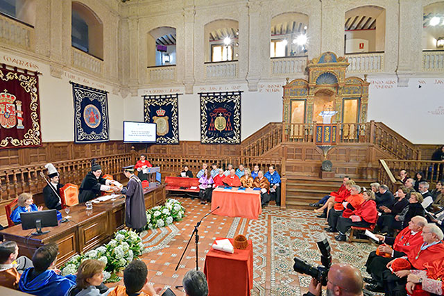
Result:
{"label": "dark blue banner with red tasselled hat over a gold shield", "polygon": [[200,142],[241,143],[241,92],[200,92]]}

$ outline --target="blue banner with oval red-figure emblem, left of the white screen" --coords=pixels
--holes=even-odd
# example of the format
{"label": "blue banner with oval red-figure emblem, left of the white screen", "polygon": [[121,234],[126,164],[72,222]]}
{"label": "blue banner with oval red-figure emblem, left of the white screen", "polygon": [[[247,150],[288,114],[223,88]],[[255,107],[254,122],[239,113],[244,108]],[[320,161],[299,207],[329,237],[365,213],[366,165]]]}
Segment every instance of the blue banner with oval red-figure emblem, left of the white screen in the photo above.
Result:
{"label": "blue banner with oval red-figure emblem, left of the white screen", "polygon": [[108,92],[70,83],[74,98],[74,142],[108,142]]}

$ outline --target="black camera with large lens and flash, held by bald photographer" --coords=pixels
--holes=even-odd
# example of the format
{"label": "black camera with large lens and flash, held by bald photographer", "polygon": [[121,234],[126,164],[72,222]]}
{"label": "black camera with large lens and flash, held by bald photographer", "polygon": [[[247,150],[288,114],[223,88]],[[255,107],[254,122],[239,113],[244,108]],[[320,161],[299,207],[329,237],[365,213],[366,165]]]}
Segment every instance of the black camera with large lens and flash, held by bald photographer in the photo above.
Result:
{"label": "black camera with large lens and flash, held by bald photographer", "polygon": [[327,286],[327,275],[332,265],[332,254],[330,253],[330,244],[323,233],[314,235],[319,251],[321,251],[321,263],[318,267],[314,267],[307,261],[295,257],[293,270],[302,274],[307,274],[316,279],[322,286]]}

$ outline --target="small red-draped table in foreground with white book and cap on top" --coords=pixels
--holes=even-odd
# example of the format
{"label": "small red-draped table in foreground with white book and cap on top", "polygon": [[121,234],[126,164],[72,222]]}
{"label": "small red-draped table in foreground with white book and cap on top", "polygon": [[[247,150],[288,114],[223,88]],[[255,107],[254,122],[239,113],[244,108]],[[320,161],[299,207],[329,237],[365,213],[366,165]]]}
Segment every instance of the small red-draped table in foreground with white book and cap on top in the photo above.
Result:
{"label": "small red-draped table in foreground with white book and cap on top", "polygon": [[[234,239],[229,240],[234,245]],[[250,296],[253,288],[253,242],[248,240],[248,247],[234,249],[234,254],[211,248],[205,258],[203,272],[207,277],[209,296]]]}

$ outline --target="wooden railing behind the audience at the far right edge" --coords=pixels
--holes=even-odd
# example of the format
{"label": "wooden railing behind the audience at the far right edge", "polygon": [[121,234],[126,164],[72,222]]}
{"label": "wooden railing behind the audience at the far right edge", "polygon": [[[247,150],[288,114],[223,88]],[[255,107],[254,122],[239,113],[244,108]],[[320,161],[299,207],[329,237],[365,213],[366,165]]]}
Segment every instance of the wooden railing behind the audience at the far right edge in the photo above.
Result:
{"label": "wooden railing behind the audience at the far right edge", "polygon": [[379,160],[381,169],[379,170],[379,181],[392,187],[400,185],[395,177],[400,170],[407,170],[409,176],[415,176],[417,172],[422,172],[425,180],[431,184],[437,183],[444,178],[443,161],[411,161],[402,159],[381,159]]}

